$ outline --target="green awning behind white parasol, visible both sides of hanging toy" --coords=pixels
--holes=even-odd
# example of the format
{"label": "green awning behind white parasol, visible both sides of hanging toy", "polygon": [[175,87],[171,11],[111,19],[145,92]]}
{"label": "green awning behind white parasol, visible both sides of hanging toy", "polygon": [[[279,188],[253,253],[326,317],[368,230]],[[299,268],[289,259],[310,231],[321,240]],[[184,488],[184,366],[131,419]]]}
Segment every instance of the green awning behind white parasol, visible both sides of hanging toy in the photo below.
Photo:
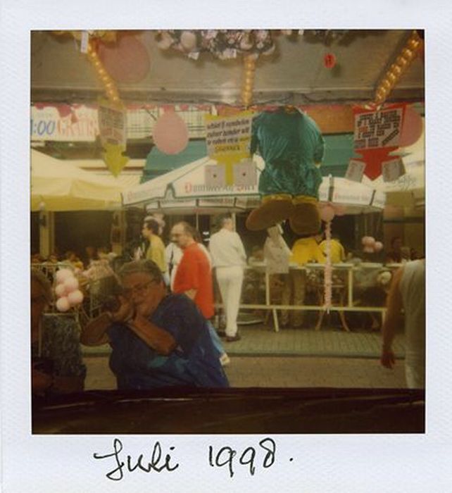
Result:
{"label": "green awning behind white parasol, visible both sides of hanging toy", "polygon": [[[349,160],[358,155],[353,152],[353,134],[325,135],[325,157],[320,171],[322,176],[329,174],[343,177],[346,173]],[[207,155],[206,141],[192,140],[179,154],[163,154],[154,146],[146,157],[141,182],[147,182],[158,175],[180,168]]]}

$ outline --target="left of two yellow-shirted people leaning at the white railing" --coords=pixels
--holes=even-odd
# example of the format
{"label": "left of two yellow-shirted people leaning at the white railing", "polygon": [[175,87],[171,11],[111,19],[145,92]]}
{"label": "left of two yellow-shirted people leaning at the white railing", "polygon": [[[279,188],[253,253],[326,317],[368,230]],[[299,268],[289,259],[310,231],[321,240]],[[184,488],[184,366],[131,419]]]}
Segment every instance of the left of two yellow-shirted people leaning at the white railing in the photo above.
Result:
{"label": "left of two yellow-shirted people leaning at the white railing", "polygon": [[[316,241],[316,237],[300,237],[292,246],[292,254],[290,263],[296,263],[299,267],[303,267],[305,263],[317,262],[325,263],[325,255],[322,254],[320,246]],[[282,304],[290,305],[291,294],[293,293],[293,306],[302,306],[306,296],[306,270],[291,268],[289,283],[282,292]],[[301,327],[304,319],[304,311],[291,310],[292,327]],[[287,326],[289,323],[289,312],[282,311],[281,325]]]}

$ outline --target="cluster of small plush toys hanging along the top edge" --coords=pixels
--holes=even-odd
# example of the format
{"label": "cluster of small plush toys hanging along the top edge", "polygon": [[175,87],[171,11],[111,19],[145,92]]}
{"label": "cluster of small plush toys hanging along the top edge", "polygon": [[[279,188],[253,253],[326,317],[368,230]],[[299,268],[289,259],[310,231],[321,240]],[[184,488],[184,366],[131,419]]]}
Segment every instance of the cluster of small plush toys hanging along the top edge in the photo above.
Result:
{"label": "cluster of small plush toys hanging along the top edge", "polygon": [[211,53],[220,60],[244,55],[270,55],[275,51],[271,30],[161,30],[157,45],[163,50],[182,51],[197,60],[201,53]]}

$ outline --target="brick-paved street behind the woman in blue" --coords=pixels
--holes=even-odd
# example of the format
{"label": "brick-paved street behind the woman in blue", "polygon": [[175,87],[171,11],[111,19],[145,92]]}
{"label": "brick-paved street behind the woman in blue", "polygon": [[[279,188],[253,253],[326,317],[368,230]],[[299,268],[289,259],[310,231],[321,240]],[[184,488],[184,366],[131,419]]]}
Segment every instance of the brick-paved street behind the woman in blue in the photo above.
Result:
{"label": "brick-paved street behind the woman in blue", "polygon": [[[398,334],[394,370],[379,365],[381,335],[339,327],[282,329],[241,325],[242,339],[225,343],[231,363],[225,368],[232,387],[405,387],[404,337]],[[108,368],[108,346],[83,347],[86,389],[115,389]]]}

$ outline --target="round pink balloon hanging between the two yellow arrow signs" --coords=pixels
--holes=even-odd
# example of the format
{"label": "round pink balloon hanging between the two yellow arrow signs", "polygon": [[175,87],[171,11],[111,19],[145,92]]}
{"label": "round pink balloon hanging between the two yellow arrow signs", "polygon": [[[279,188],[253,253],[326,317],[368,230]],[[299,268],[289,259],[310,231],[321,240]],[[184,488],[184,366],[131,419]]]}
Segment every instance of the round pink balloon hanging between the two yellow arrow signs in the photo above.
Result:
{"label": "round pink balloon hanging between the two yellow arrow signs", "polygon": [[184,120],[173,111],[164,113],[153,127],[153,142],[164,154],[179,154],[188,144],[189,133]]}

